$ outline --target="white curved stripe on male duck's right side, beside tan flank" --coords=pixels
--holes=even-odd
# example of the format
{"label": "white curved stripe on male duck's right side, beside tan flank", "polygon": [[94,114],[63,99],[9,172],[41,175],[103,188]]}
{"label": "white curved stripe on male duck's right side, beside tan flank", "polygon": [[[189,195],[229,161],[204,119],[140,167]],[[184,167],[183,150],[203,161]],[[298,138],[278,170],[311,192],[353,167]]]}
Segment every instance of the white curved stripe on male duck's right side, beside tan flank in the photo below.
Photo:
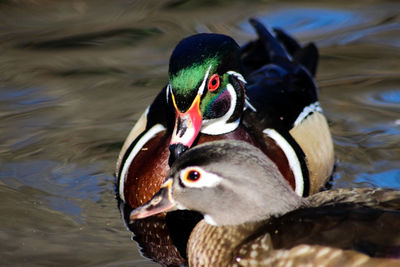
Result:
{"label": "white curved stripe on male duck's right side, beside tan flank", "polygon": [[290,169],[294,174],[294,179],[296,183],[295,192],[299,196],[303,196],[304,191],[304,178],[303,172],[301,170],[300,161],[296,155],[296,152],[292,146],[274,129],[264,129],[263,133],[274,139],[274,141],[280,146],[289,161]]}

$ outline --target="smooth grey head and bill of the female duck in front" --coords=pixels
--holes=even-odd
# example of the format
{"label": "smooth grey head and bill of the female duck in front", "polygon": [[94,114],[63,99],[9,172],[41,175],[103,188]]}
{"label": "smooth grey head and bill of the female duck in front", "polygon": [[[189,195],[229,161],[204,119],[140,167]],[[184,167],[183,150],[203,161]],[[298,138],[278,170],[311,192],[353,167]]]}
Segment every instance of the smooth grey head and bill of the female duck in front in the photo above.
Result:
{"label": "smooth grey head and bill of the female duck in front", "polygon": [[301,199],[262,151],[225,140],[188,150],[173,164],[159,193],[134,210],[131,219],[178,208],[196,210],[210,224],[233,225],[300,205]]}

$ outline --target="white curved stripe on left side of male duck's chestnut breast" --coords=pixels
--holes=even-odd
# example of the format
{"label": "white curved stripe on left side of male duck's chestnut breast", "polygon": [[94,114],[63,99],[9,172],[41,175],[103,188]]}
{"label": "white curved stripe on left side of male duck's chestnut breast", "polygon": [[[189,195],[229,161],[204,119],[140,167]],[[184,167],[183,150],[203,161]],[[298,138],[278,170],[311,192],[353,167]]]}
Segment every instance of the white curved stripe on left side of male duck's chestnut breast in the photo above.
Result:
{"label": "white curved stripe on left side of male duck's chestnut breast", "polygon": [[164,131],[165,127],[162,126],[161,124],[156,124],[153,127],[150,128],[150,130],[147,131],[145,135],[140,138],[140,140],[136,143],[135,147],[132,149],[131,153],[129,154],[129,157],[126,159],[125,162],[123,162],[123,167],[122,167],[122,172],[119,177],[119,197],[121,198],[122,201],[125,202],[125,196],[124,196],[124,185],[125,185],[125,180],[126,176],[128,173],[129,166],[131,165],[133,159],[136,157],[137,153],[143,148],[143,146],[151,139],[153,138],[156,134],[158,134],[161,131]]}

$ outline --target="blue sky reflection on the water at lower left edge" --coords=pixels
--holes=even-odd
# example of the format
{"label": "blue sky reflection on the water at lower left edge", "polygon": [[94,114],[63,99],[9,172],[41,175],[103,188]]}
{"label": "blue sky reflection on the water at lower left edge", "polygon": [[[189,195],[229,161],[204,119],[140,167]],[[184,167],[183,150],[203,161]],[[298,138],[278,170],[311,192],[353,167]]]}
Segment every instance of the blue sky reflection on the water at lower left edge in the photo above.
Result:
{"label": "blue sky reflection on the water at lower left edge", "polygon": [[51,209],[79,218],[82,212],[79,200],[99,201],[103,191],[100,181],[110,180],[105,174],[94,174],[97,169],[96,165],[79,168],[49,160],[19,161],[2,164],[0,178],[4,185],[15,190],[34,189]]}

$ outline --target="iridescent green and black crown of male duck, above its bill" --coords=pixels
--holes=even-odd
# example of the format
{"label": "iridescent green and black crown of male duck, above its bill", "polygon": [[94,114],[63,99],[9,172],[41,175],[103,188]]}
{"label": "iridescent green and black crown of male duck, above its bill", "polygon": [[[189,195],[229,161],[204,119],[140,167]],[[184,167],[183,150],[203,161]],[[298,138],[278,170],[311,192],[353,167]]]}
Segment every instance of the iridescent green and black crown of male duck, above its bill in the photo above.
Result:
{"label": "iridescent green and black crown of male duck, above its bill", "polygon": [[[205,77],[208,70],[209,77]],[[226,80],[228,71],[239,71],[239,46],[231,37],[203,33],[183,39],[169,62],[170,85],[181,100],[178,108],[185,111],[190,107],[205,78],[218,74]]]}

